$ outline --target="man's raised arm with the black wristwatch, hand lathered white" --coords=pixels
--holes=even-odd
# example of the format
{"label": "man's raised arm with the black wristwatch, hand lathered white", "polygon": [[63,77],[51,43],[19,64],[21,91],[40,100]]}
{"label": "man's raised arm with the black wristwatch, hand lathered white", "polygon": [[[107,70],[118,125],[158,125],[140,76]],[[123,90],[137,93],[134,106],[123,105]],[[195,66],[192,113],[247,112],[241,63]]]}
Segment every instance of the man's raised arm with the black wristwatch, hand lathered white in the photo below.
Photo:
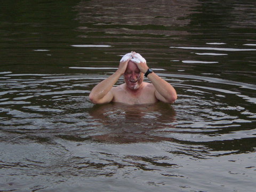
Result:
{"label": "man's raised arm with the black wristwatch, hand lathered white", "polygon": [[[146,60],[139,53],[134,52],[133,59],[131,59],[131,61],[137,64],[138,68],[143,74],[145,74],[148,70]],[[158,100],[173,103],[177,99],[177,93],[170,83],[166,82],[154,72],[148,74],[147,77],[156,89],[155,96]]]}

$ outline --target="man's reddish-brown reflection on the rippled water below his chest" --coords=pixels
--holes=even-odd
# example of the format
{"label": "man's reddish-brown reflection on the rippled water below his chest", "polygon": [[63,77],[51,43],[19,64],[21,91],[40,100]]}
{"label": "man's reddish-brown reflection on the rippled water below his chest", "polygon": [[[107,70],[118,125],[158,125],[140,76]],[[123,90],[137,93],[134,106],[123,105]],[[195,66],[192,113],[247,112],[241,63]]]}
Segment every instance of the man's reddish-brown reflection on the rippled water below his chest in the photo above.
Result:
{"label": "man's reddish-brown reflection on the rippled water below his chest", "polygon": [[97,133],[92,137],[95,141],[134,143],[172,140],[175,111],[167,103],[108,103],[94,105],[89,112],[95,123],[100,123],[104,129],[102,134]]}

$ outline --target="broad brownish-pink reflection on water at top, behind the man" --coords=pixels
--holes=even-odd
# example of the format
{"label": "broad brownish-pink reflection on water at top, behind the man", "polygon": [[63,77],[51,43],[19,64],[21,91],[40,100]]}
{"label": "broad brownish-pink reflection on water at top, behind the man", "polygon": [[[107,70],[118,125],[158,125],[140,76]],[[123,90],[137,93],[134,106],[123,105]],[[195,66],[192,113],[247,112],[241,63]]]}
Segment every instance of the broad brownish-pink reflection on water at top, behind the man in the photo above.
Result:
{"label": "broad brownish-pink reflection on water at top, behind the man", "polygon": [[[92,0],[81,1],[75,9],[79,12],[77,19],[81,23],[91,23],[91,26],[99,30],[106,30],[109,29],[109,26],[114,27],[118,25],[120,31],[129,33],[129,30],[132,29],[133,32],[135,32],[139,24],[145,27],[148,26],[148,29],[154,27],[156,30],[163,29],[161,30],[163,32],[165,27],[187,25],[190,21],[187,15],[193,13],[190,7],[196,6],[197,4],[198,1],[170,2],[165,0],[161,2],[123,2],[115,0],[111,2],[101,2],[99,4],[99,1]],[[156,23],[159,25],[159,28],[155,26]],[[103,29],[101,26],[105,26],[106,29]],[[81,27],[81,29],[83,28]],[[90,28],[85,27],[84,29],[90,30]],[[117,32],[117,30],[113,29],[108,30],[108,33],[111,34],[111,31]],[[147,31],[148,30],[145,29],[145,31],[140,31],[140,33]],[[159,31],[157,34],[159,34]]]}

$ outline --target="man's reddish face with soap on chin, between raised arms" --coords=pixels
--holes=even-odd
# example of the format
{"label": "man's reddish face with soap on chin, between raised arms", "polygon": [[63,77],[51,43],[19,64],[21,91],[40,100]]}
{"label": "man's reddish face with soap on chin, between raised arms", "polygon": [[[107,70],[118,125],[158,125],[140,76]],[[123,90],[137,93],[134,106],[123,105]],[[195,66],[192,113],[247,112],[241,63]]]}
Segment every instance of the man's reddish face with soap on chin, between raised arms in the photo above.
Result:
{"label": "man's reddish face with soap on chin, between raised arms", "polygon": [[134,62],[129,61],[124,73],[124,82],[127,87],[131,90],[137,90],[139,89],[142,81],[143,74],[140,72],[140,69]]}

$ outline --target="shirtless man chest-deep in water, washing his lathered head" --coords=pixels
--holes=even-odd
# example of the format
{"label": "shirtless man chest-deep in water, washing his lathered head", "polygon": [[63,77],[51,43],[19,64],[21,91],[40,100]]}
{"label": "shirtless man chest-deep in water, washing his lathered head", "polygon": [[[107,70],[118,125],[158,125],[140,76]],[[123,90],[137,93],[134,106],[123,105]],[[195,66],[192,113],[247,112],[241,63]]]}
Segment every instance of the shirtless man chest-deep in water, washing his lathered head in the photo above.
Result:
{"label": "shirtless man chest-deep in water, washing his lathered head", "polygon": [[[114,86],[122,75],[125,83]],[[151,83],[143,82],[144,75]],[[92,89],[89,98],[98,104],[121,102],[137,105],[157,101],[173,103],[177,99],[177,93],[171,84],[147,66],[146,60],[139,53],[131,52],[124,55],[113,75]]]}

